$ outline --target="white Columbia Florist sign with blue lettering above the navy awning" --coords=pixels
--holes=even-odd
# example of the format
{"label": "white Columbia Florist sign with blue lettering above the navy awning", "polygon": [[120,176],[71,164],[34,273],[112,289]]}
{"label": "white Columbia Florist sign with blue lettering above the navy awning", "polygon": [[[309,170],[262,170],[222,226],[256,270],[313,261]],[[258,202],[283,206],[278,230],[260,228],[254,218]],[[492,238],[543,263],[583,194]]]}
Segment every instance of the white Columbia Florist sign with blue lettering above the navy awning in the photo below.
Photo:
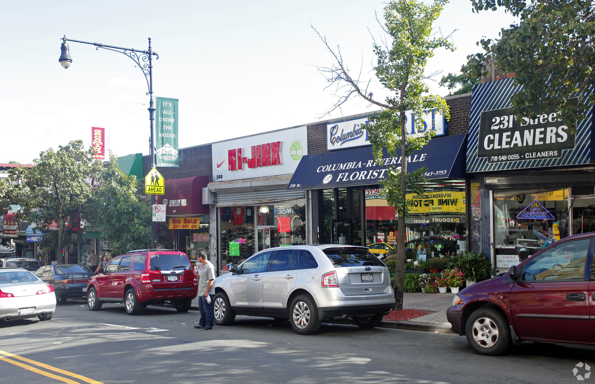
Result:
{"label": "white Columbia Florist sign with blue lettering above the navy awning", "polygon": [[[444,136],[447,124],[444,117],[436,109],[423,112],[424,128],[415,130],[412,119],[413,111],[405,112],[407,135],[409,137],[423,136],[428,130],[436,131],[435,136]],[[372,145],[368,138],[366,125],[372,120],[367,117],[327,124],[327,150],[346,149]]]}

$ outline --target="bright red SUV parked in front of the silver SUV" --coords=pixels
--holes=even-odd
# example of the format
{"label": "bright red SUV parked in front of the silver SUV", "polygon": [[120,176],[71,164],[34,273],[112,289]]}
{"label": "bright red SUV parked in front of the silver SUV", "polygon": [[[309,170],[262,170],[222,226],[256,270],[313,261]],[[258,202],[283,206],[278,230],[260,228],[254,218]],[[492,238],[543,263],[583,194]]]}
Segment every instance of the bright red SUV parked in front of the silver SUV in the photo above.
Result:
{"label": "bright red SUV parked in front of the silver SUV", "polygon": [[190,309],[198,285],[192,264],[178,250],[136,250],[116,256],[99,274],[89,278],[87,305],[92,311],[103,303],[126,304],[128,314],[139,314],[150,304],[173,304],[179,312]]}

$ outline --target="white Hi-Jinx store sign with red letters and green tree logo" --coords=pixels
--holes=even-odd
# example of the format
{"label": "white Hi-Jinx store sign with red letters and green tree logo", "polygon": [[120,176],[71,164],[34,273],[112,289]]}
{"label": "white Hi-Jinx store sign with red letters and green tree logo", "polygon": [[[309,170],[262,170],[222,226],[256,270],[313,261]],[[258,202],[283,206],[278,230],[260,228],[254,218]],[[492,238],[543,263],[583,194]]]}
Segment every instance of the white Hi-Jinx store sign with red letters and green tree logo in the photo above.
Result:
{"label": "white Hi-Jinx store sign with red letters and green tree logo", "polygon": [[212,144],[213,181],[293,174],[308,155],[306,127]]}

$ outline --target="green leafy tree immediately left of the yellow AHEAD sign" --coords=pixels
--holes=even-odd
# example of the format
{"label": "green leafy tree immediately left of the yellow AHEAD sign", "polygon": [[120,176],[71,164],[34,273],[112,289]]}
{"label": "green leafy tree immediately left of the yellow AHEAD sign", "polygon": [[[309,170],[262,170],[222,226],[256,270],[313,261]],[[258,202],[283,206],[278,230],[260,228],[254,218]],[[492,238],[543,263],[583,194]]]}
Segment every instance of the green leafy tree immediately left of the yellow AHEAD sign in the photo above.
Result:
{"label": "green leafy tree immediately left of the yellow AHEAD sign", "polygon": [[136,177],[124,174],[117,158],[110,156],[108,168],[96,180],[89,219],[112,242],[114,254],[148,248],[151,243],[151,206],[139,199],[141,193]]}

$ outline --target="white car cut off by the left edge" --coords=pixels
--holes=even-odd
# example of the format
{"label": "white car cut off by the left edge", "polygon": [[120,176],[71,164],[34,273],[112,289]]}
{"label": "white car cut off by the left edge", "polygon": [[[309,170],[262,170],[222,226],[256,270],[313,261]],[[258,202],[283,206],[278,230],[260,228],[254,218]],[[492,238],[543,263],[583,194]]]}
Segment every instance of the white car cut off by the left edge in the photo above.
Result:
{"label": "white car cut off by the left edge", "polygon": [[54,287],[26,269],[0,269],[0,321],[36,316],[39,320],[49,320],[55,310]]}

